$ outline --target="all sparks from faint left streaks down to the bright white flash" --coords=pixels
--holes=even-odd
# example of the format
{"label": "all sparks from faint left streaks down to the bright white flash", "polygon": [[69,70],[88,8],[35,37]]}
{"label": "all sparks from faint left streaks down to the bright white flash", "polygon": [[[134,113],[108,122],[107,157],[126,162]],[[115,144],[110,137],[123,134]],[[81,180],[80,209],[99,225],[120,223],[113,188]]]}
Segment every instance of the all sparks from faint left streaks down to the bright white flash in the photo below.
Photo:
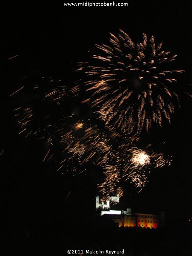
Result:
{"label": "all sparks from faint left streaks down to the bright white flash", "polygon": [[[14,96],[24,98],[25,90]],[[44,141],[42,162],[54,162],[55,169],[62,174],[74,176],[97,167],[102,173],[98,184],[102,201],[109,200],[111,195],[121,197],[123,182],[142,189],[152,168],[168,165],[163,154],[138,150],[138,137],[122,135],[113,125],[100,126],[97,119],[90,119],[87,114],[82,118],[75,109],[76,101],[82,106],[88,100],[76,97],[78,86],[69,89],[60,80],[43,77],[28,94],[33,99],[30,96],[13,111],[18,134]]]}

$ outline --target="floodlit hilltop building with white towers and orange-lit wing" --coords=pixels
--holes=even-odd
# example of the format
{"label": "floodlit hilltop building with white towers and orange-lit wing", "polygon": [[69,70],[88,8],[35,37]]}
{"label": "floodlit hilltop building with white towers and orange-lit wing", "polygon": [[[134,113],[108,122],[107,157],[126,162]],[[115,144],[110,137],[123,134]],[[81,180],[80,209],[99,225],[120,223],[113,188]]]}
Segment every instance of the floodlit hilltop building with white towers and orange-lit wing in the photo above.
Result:
{"label": "floodlit hilltop building with white towers and orange-lit wing", "polygon": [[[118,197],[113,197],[110,200],[119,202]],[[99,204],[99,197],[96,197],[96,211],[100,216],[106,216],[113,220],[119,227],[142,227],[142,228],[157,228],[164,224],[164,212],[157,214],[143,214],[132,212],[131,208],[127,210],[110,210],[110,200],[104,204]]]}

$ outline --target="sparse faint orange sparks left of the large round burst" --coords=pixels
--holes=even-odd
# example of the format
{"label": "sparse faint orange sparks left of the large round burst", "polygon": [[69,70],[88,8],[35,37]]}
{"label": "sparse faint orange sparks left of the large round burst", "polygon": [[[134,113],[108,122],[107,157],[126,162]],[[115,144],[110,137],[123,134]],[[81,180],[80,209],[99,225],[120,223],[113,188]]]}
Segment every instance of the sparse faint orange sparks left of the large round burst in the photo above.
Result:
{"label": "sparse faint orange sparks left of the large round burst", "polygon": [[69,98],[74,97],[75,93],[78,93],[78,88],[68,89],[61,80],[52,77],[41,77],[30,89],[25,88],[23,93],[17,94],[20,105],[13,110],[13,117],[20,128],[18,134],[23,133],[25,137],[35,135],[38,138],[54,134],[59,129],[57,119],[62,116],[61,108],[63,105],[66,107]]}

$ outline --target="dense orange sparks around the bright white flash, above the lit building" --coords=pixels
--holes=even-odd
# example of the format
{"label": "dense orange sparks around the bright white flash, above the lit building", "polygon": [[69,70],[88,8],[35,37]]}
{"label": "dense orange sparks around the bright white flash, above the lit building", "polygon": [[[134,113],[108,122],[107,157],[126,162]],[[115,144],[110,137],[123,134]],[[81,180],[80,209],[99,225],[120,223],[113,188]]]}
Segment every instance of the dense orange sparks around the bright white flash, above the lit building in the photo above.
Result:
{"label": "dense orange sparks around the bright white flash, above the lit building", "polygon": [[[81,137],[75,132],[81,130]],[[74,128],[62,135],[60,142],[67,153],[65,161],[77,161],[81,167],[80,173],[89,170],[92,163],[102,169],[103,182],[98,184],[100,200],[106,201],[111,195],[123,195],[120,184],[130,181],[140,190],[146,185],[147,177],[154,168],[168,166],[170,160],[162,153],[153,150],[138,150],[138,138],[125,138],[118,134],[114,127],[100,130],[98,126],[84,124],[81,121],[74,124]],[[75,160],[74,160],[75,159]],[[83,169],[83,170],[82,170]],[[79,172],[79,167],[75,172]],[[74,170],[73,170],[74,172]]]}

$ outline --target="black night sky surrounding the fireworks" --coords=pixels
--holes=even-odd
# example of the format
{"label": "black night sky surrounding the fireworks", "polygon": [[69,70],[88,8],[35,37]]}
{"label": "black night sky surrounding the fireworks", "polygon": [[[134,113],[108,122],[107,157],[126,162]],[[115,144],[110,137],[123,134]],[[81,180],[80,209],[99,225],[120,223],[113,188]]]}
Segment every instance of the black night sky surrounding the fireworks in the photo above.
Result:
{"label": "black night sky surrounding the fireworks", "polygon": [[[1,16],[1,194],[6,226],[11,237],[26,234],[39,225],[59,226],[78,209],[94,215],[96,175],[61,175],[52,164],[42,163],[44,143],[18,135],[12,118],[16,97],[9,97],[22,86],[41,76],[73,83],[73,68],[86,61],[94,44],[108,42],[110,32],[124,30],[133,41],[145,32],[178,57],[175,66],[185,70],[179,86],[191,83],[191,4],[161,1],[132,3],[129,7],[67,8],[62,2],[39,6],[26,3],[6,7]],[[19,55],[13,59],[12,56]],[[27,76],[25,79],[22,79]],[[182,90],[182,89],[181,89]],[[24,96],[25,97],[25,96]],[[25,99],[23,99],[25,100]],[[172,123],[155,128],[143,140],[166,142],[173,155],[172,165],[155,170],[146,187],[137,190],[123,185],[124,196],[117,208],[132,206],[138,211],[165,210],[169,220],[192,216],[191,207],[191,98],[181,98],[182,108]],[[65,111],[65,110],[63,110]],[[70,194],[69,194],[70,193]],[[68,196],[66,200],[66,197]],[[88,217],[88,213],[86,215]]]}

